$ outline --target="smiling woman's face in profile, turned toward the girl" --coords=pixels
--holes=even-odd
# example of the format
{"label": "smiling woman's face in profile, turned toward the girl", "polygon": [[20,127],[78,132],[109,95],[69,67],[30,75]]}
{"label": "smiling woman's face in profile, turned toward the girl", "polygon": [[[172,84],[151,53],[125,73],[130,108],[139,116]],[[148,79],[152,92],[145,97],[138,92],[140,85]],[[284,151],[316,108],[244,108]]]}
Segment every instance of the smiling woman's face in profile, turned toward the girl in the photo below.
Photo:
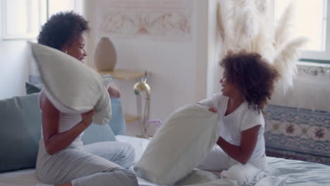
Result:
{"label": "smiling woman's face in profile, turned toward the girl", "polygon": [[66,54],[69,54],[70,56],[77,58],[79,61],[83,63],[85,56],[87,56],[87,53],[84,48],[85,48],[85,37],[83,35],[80,35],[78,39],[75,39],[71,44],[66,46],[64,48],[64,51],[66,52]]}

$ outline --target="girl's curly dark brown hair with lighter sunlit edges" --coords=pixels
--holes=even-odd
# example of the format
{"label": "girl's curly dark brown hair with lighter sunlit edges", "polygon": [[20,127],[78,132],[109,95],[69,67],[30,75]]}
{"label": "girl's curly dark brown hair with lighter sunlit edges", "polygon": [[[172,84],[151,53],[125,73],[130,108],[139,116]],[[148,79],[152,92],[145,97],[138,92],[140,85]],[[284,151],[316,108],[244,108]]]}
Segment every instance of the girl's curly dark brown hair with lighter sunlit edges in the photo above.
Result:
{"label": "girl's curly dark brown hair with lighter sunlit edges", "polygon": [[228,52],[220,65],[225,69],[226,81],[237,85],[248,105],[264,113],[279,78],[274,66],[260,54],[247,51]]}

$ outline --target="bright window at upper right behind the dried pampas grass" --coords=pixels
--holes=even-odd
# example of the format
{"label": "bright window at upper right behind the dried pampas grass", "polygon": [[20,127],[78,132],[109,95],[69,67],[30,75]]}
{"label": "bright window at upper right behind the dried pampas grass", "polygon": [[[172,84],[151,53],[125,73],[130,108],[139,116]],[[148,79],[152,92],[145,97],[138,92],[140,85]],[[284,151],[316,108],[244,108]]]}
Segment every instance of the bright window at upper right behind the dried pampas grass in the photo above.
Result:
{"label": "bright window at upper right behind the dried pampas grass", "polygon": [[274,0],[276,20],[290,3],[294,9],[293,35],[309,39],[301,61],[330,63],[330,4],[327,0]]}

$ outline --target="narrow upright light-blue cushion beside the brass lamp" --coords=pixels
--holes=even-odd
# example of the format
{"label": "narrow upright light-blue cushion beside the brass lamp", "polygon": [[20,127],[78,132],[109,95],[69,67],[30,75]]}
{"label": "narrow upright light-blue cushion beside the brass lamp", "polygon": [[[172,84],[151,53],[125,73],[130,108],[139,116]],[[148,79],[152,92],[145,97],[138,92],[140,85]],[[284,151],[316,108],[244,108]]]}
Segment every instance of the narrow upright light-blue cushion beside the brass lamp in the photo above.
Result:
{"label": "narrow upright light-blue cushion beside the brass lamp", "polygon": [[114,135],[126,135],[126,123],[121,107],[121,98],[111,98],[112,118],[109,125]]}

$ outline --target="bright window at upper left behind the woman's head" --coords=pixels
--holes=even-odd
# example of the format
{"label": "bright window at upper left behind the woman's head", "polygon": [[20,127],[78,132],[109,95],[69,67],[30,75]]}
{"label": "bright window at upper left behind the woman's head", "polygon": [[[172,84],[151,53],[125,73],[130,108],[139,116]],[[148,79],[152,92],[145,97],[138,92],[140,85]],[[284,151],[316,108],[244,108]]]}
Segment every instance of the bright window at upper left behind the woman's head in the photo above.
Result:
{"label": "bright window at upper left behind the woman's head", "polygon": [[40,27],[54,13],[84,13],[84,0],[3,0],[0,3],[2,39],[35,39]]}

